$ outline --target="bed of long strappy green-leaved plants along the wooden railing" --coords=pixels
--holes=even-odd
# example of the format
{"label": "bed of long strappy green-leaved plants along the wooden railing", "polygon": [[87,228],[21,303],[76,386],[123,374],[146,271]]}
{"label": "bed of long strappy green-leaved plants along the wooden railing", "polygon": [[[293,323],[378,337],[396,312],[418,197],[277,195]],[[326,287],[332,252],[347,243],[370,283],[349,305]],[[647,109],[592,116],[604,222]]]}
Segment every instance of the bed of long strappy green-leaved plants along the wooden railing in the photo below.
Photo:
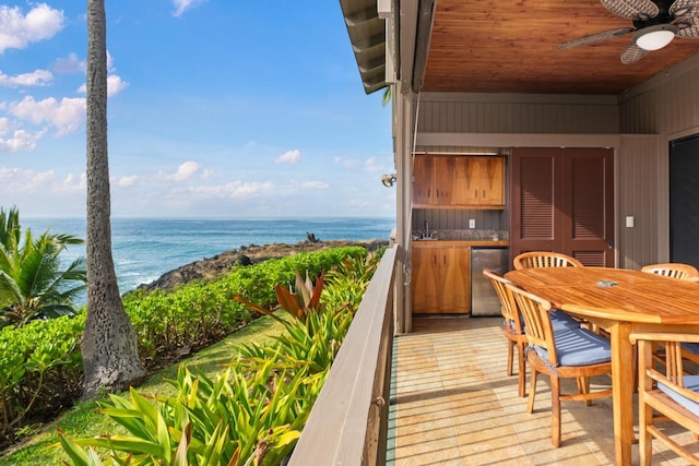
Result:
{"label": "bed of long strappy green-leaved plants along the wooden railing", "polygon": [[[181,366],[173,397],[149,401],[135,390],[128,398],[111,395],[102,413],[128,434],[70,439],[59,432],[63,450],[81,466],[280,464],[300,435],[352,323],[353,303],[376,268],[375,260],[366,266],[354,263],[359,261],[343,266],[362,271],[353,279],[366,283],[330,274],[328,296],[335,299],[309,307],[304,319],[283,320],[286,332],[272,344],[240,347],[240,356],[215,380]],[[340,302],[340,296],[348,300]]]}

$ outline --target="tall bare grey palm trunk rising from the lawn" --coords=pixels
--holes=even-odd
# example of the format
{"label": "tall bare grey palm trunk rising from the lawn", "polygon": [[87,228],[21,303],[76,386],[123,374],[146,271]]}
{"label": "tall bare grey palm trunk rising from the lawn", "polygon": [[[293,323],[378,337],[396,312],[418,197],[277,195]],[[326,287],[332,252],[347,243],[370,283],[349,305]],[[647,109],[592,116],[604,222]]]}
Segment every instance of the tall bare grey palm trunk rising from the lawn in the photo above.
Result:
{"label": "tall bare grey palm trunk rising from the lawn", "polygon": [[117,391],[145,375],[111,256],[107,151],[107,33],[104,0],[87,0],[87,319],[83,396]]}

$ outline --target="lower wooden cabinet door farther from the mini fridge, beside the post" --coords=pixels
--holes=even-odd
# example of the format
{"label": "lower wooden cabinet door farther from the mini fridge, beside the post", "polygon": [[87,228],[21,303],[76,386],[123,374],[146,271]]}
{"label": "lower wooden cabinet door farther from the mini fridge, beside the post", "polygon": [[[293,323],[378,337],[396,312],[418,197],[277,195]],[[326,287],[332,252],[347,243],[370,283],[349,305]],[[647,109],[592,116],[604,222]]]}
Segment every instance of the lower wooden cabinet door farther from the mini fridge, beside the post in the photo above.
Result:
{"label": "lower wooden cabinet door farther from the mini fridge, beside the post", "polygon": [[439,312],[439,248],[413,248],[413,312]]}

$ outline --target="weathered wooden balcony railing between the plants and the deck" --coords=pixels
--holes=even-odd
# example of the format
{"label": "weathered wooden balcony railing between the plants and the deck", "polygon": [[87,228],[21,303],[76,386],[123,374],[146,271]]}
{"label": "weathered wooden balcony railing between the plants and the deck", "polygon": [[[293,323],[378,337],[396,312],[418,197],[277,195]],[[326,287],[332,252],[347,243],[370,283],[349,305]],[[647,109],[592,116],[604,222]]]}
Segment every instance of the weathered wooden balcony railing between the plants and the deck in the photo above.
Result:
{"label": "weathered wooden balcony railing between the plants and the deck", "polygon": [[374,274],[291,466],[386,464],[398,251],[388,249]]}

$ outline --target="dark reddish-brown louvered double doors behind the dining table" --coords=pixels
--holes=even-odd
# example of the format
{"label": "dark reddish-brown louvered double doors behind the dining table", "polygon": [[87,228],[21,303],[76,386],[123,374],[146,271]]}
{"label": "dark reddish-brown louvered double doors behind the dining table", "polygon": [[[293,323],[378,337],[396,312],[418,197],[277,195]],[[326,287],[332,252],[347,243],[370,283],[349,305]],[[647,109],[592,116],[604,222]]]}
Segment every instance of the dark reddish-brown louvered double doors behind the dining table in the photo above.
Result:
{"label": "dark reddish-brown louvered double doors behind the dining table", "polygon": [[614,152],[512,151],[510,253],[557,251],[614,265]]}

